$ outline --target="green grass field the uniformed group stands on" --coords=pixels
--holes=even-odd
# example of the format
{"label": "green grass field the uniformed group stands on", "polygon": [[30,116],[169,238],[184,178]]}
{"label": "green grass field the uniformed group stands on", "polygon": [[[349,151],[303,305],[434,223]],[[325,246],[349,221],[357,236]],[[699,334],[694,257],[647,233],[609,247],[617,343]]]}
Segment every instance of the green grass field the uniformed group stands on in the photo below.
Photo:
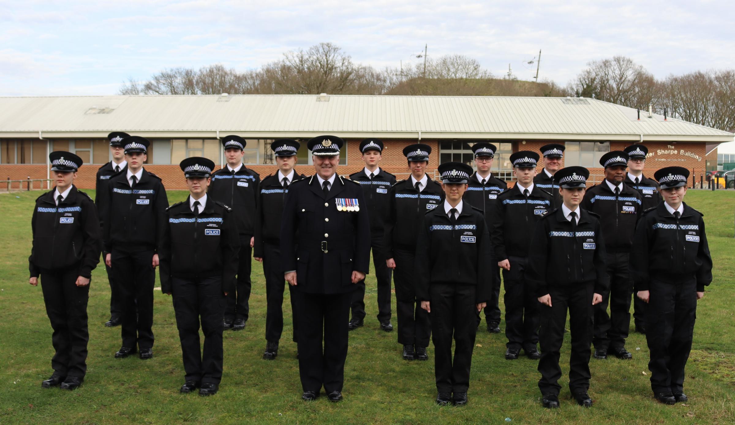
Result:
{"label": "green grass field the uniformed group stands on", "polygon": [[[44,390],[51,374],[51,326],[40,286],[28,285],[31,212],[40,192],[0,194],[0,423],[1,424],[733,424],[735,423],[735,191],[690,190],[686,201],[705,213],[714,258],[714,282],[698,301],[692,357],[685,391],[689,403],[664,406],[650,392],[645,337],[632,334],[631,361],[592,360],[592,409],[568,399],[568,367],[562,365],[562,407],[539,403],[537,363],[504,359],[505,336],[478,331],[470,380],[470,404],[434,404],[433,349],[429,362],[401,360],[395,332],[379,329],[375,279],[368,276],[365,326],[350,333],[345,368],[345,400],[325,396],[301,401],[295,344],[290,341],[290,308],[275,361],[262,360],[265,348],[265,280],[253,263],[251,316],[242,332],[226,332],[220,392],[213,397],[179,394],[183,383],[181,348],[171,298],[154,299],[154,359],[116,360],[120,328],[106,328],[110,287],[104,267],[93,272],[89,301],[87,377],[79,390]],[[93,193],[90,193],[94,196]],[[171,192],[180,201],[186,193]],[[395,299],[394,299],[395,304]],[[501,306],[501,310],[503,307]],[[395,324],[395,315],[394,322]],[[504,322],[501,329],[504,329]],[[568,362],[568,334],[562,360]]]}

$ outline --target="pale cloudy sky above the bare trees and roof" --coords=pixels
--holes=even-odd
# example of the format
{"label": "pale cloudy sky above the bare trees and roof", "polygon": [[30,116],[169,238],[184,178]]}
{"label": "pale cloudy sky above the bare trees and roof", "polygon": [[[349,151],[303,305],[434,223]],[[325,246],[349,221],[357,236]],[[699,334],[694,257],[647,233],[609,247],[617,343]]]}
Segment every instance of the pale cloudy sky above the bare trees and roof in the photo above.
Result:
{"label": "pale cloudy sky above the bare trees and roof", "polygon": [[464,54],[496,76],[566,85],[591,60],[656,77],[735,68],[731,1],[7,1],[0,96],[107,95],[129,78],[221,63],[259,68],[331,42],[376,68]]}

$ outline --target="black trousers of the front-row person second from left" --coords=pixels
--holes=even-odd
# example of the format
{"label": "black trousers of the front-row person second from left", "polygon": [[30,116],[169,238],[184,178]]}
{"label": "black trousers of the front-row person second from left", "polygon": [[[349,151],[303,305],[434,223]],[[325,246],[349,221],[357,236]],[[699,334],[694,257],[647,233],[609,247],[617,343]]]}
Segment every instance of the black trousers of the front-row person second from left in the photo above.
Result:
{"label": "black trousers of the front-row person second from left", "polygon": [[[222,380],[222,319],[225,294],[222,277],[171,278],[176,328],[182,343],[185,379],[220,383]],[[199,321],[204,353],[199,344]]]}

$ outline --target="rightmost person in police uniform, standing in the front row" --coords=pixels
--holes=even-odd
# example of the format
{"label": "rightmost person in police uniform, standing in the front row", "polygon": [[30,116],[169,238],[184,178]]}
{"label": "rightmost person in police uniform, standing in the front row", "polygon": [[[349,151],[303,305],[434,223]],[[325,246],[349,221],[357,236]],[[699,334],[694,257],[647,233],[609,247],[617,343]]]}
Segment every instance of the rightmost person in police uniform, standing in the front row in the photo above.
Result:
{"label": "rightmost person in police uniform, standing in the front row", "polygon": [[697,300],[712,281],[712,259],[702,213],[684,204],[689,170],[654,174],[664,201],[636,227],[631,274],[646,309],[650,387],[664,404],[686,402],[684,367],[692,349]]}

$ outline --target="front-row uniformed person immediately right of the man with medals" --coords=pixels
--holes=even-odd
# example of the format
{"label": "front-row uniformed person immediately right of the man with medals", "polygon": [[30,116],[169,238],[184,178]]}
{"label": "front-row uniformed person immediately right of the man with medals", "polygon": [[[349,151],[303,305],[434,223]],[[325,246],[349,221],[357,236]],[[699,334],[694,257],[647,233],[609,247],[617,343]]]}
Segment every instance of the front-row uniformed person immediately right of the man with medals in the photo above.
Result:
{"label": "front-row uniformed person immediately right of the man with medals", "polygon": [[[431,316],[437,404],[467,404],[475,315],[490,301],[495,262],[482,211],[462,196],[472,167],[439,165],[445,201],[423,217],[416,244],[416,296]],[[454,356],[452,359],[452,340]],[[452,396],[450,396],[452,395]]]}

